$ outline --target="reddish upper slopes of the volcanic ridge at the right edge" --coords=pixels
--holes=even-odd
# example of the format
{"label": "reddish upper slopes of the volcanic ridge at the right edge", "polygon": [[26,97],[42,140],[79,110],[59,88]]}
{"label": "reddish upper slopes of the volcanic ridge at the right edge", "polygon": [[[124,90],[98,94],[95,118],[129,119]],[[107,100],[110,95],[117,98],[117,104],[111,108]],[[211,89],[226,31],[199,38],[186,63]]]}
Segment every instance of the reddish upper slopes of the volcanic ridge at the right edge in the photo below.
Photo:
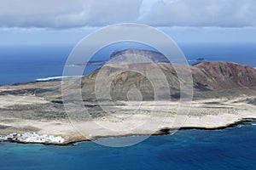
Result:
{"label": "reddish upper slopes of the volcanic ridge at the right edge", "polygon": [[256,86],[256,70],[232,62],[201,62],[191,67],[194,81],[212,89],[250,88]]}

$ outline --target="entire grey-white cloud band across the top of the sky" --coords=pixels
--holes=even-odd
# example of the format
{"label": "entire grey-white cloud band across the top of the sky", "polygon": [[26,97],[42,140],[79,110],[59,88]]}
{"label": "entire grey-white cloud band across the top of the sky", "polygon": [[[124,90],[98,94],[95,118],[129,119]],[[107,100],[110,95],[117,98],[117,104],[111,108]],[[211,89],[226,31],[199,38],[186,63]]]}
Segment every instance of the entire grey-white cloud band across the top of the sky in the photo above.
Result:
{"label": "entire grey-white cloud band across the top of the sky", "polygon": [[255,0],[4,0],[2,27],[256,26]]}

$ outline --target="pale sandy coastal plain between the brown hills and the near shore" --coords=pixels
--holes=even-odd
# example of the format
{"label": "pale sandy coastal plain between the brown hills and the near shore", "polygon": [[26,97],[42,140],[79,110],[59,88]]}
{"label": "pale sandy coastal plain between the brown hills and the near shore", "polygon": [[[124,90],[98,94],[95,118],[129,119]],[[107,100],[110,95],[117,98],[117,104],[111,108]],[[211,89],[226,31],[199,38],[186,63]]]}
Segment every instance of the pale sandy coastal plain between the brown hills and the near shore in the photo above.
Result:
{"label": "pale sandy coastal plain between the brown hills and the near shore", "polygon": [[[152,108],[152,102],[147,101],[143,103],[143,110],[138,114],[132,113],[134,108],[127,107],[127,103],[123,102],[123,105],[117,105],[115,107],[122,108],[125,111],[125,114],[119,112],[113,116],[99,116],[92,120],[86,121],[86,127],[84,133],[87,135],[80,134],[73,124],[68,120],[68,117],[62,117],[61,115],[53,116],[51,112],[51,117],[45,116],[45,113],[37,112],[36,114],[31,110],[35,110],[30,104],[29,108],[27,107],[27,101],[34,102],[37,105],[45,105],[44,108],[49,108],[49,102],[37,98],[34,99],[34,96],[31,96],[32,99],[24,99],[20,101],[20,97],[11,97],[13,99],[13,105],[3,105],[1,103],[0,96],[0,120],[1,128],[0,134],[8,135],[9,133],[32,133],[36,132],[39,135],[47,134],[53,136],[61,136],[65,139],[65,142],[61,144],[56,144],[53,142],[45,142],[43,144],[55,144],[55,145],[70,145],[75,144],[80,141],[90,141],[98,138],[108,138],[108,137],[124,137],[132,135],[166,135],[169,134],[172,130],[186,130],[186,129],[201,129],[201,130],[216,130],[224,129],[227,127],[236,127],[240,124],[245,124],[248,122],[253,122],[256,120],[256,105],[248,104],[248,101],[255,99],[254,97],[243,97],[236,99],[203,99],[195,100],[192,102],[189,116],[186,116],[186,120],[183,122],[181,127],[173,127],[172,123],[175,120],[175,108],[177,102],[172,102],[170,109],[166,109],[166,102],[158,105],[157,112],[155,115],[148,115],[148,110]],[[29,98],[29,96],[26,96]],[[4,96],[4,101],[6,101],[6,96]],[[17,102],[15,99],[18,99],[19,105],[17,107]],[[2,100],[3,101],[3,100]],[[21,102],[21,103],[20,103]],[[24,103],[22,103],[24,102]],[[61,105],[61,104],[54,104]],[[132,104],[131,104],[132,105]],[[24,106],[24,108],[23,108]],[[20,108],[22,109],[22,114],[20,115]],[[94,108],[94,107],[90,107]],[[130,108],[130,111],[127,111],[127,108]],[[29,111],[27,111],[29,109]],[[63,109],[63,108],[61,108]],[[60,111],[61,111],[60,109]],[[116,109],[116,108],[115,108]],[[45,109],[44,109],[45,110]],[[95,109],[98,111],[98,109]],[[36,111],[38,108],[36,107]],[[27,112],[27,113],[26,113]],[[56,114],[55,111],[54,113]],[[12,113],[12,115],[9,115]],[[131,114],[127,116],[128,114]],[[166,120],[163,122],[163,113],[166,114]],[[9,116],[8,116],[9,115]],[[34,117],[33,117],[34,116]],[[60,117],[61,116],[61,117]],[[54,118],[55,117],[55,118]],[[116,122],[116,117],[120,118],[119,122]],[[127,130],[131,125],[136,125],[142,123],[141,120],[145,120],[150,117],[154,122],[150,122],[150,126],[138,127],[135,130]],[[83,121],[75,122],[78,125],[84,124]],[[96,126],[97,123],[100,123],[106,128]],[[121,131],[109,130],[113,126],[121,126]],[[156,128],[157,127],[157,128]],[[19,142],[19,141],[12,141]],[[38,144],[37,142],[20,142],[28,144]],[[42,143],[41,143],[42,144]]]}

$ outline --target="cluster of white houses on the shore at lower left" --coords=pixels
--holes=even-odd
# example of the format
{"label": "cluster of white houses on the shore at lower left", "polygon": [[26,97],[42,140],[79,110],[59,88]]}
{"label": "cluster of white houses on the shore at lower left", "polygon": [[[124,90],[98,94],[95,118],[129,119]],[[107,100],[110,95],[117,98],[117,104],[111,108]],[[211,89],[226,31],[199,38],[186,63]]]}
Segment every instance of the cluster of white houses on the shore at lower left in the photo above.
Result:
{"label": "cluster of white houses on the shore at lower left", "polygon": [[38,133],[10,133],[9,135],[0,135],[0,141],[1,140],[42,144],[62,144],[65,142],[65,139],[61,136],[39,135]]}

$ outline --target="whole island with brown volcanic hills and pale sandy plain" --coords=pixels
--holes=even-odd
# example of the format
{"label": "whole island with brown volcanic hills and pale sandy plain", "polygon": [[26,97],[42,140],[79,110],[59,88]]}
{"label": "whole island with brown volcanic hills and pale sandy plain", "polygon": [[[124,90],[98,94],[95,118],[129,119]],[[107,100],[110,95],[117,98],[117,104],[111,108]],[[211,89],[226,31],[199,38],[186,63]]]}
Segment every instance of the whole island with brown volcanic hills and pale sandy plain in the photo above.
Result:
{"label": "whole island with brown volcanic hills and pale sandy plain", "polygon": [[[162,121],[163,114],[166,121],[158,127],[154,134],[165,134],[172,130],[172,123],[180,102],[180,82],[176,69],[183,65],[168,63],[162,54],[149,50],[127,49],[115,51],[111,59],[119,54],[140,54],[149,56],[166,75],[170,88],[170,100],[158,102],[154,112],[154,122],[157,126]],[[157,55],[157,57],[155,57]],[[159,59],[160,57],[160,59]],[[154,59],[155,58],[155,59]],[[157,59],[156,59],[157,58]],[[175,65],[175,66],[173,66]],[[100,137],[118,137],[127,135],[152,134],[150,127],[130,129],[131,124],[139,124],[147,119],[148,111],[154,103],[154,89],[147,77],[132,71],[115,73],[119,65],[104,65],[111,83],[111,97],[115,105],[108,105],[112,113],[102,110],[96,99],[95,82],[101,68],[84,77],[67,78],[64,81],[81,82],[81,93],[84,107],[90,117],[78,119],[76,124],[86,122],[84,136],[70,122],[62,100],[60,80],[44,82],[26,82],[0,87],[0,141],[40,144],[71,144],[76,141],[94,140]],[[131,64],[131,67],[150,69],[148,63]],[[240,65],[226,61],[201,61],[189,65],[193,77],[193,101],[188,105],[190,111],[181,129],[201,128],[219,129],[234,127],[240,123],[252,122],[256,119],[256,69],[248,65]],[[155,76],[157,77],[157,76]],[[154,78],[154,77],[153,77]],[[62,80],[63,83],[63,80]],[[127,92],[137,88],[142,94],[140,111],[134,112],[132,105],[137,101],[128,101]],[[72,95],[73,91],[69,91]],[[73,101],[71,101],[73,102]],[[129,107],[128,107],[128,106]],[[170,105],[170,107],[166,107]],[[118,108],[118,111],[116,111]],[[76,114],[76,113],[74,113]],[[119,117],[119,119],[116,119]],[[111,128],[114,123],[121,125],[120,131],[109,131],[102,127],[95,127],[95,122]],[[129,130],[130,129],[130,130]]]}

